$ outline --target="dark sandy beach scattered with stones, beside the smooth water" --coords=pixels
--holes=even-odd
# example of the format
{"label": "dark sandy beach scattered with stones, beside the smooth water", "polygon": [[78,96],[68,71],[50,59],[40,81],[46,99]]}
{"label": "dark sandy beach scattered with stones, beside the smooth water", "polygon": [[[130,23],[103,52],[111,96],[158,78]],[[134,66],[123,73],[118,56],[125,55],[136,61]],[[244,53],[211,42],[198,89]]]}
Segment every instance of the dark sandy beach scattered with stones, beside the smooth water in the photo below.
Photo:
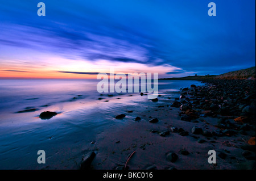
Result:
{"label": "dark sandy beach scattered with stones, beside the smooth water", "polygon": [[[199,91],[203,87],[201,90],[210,91],[218,86],[218,82],[209,83],[211,85],[192,85],[183,89],[180,92],[183,98],[179,99],[183,103],[180,104],[187,106],[194,98],[195,90]],[[251,86],[255,87],[255,82]],[[175,103],[168,102],[168,99],[164,100],[168,93],[164,94],[158,97],[158,102],[152,102],[152,106],[147,110],[128,113],[134,117],[139,116],[142,120],[119,129],[113,127],[97,136],[97,155],[92,162],[93,169],[125,169],[125,163],[131,153],[134,154],[126,169],[255,169],[255,112],[246,112],[250,121],[242,123],[234,121],[240,117],[239,113],[218,113],[210,106],[199,109],[198,103],[192,103],[191,108],[180,108],[180,105],[175,106]],[[254,96],[251,92],[248,94]],[[255,96],[252,97],[254,98]],[[196,100],[193,99],[194,102]],[[255,104],[255,99],[248,104],[253,102]],[[219,102],[221,103],[223,102]],[[246,113],[241,108],[244,117]],[[189,119],[192,116],[196,117]],[[159,121],[149,123],[148,120],[152,117]],[[181,117],[184,119],[181,120]],[[250,142],[253,139],[254,142]],[[209,150],[216,151],[216,164],[208,163]],[[170,161],[170,153],[177,155],[175,161]]]}

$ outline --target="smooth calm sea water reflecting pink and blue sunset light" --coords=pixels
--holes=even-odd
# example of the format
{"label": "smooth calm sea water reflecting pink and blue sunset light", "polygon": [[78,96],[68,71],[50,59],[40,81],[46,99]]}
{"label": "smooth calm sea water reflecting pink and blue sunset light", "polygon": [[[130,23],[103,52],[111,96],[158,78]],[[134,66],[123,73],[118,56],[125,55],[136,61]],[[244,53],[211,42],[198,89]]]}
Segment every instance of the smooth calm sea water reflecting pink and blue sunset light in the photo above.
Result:
{"label": "smooth calm sea water reflecting pink and blue sunset light", "polygon": [[[90,141],[97,133],[111,125],[125,124],[115,120],[116,115],[151,103],[147,96],[139,93],[100,95],[96,89],[98,82],[86,79],[0,80],[0,169],[42,169],[36,162],[40,149],[46,150],[52,158],[49,164],[54,162],[64,168],[61,163],[65,161],[61,159],[80,157],[82,151],[90,149]],[[179,96],[176,92],[181,87],[191,84],[202,85],[197,81],[159,80],[159,94],[173,92],[173,100]],[[32,108],[34,112],[18,113]],[[43,111],[55,111],[58,115],[41,120],[39,115]],[[72,159],[68,161],[75,165]]]}

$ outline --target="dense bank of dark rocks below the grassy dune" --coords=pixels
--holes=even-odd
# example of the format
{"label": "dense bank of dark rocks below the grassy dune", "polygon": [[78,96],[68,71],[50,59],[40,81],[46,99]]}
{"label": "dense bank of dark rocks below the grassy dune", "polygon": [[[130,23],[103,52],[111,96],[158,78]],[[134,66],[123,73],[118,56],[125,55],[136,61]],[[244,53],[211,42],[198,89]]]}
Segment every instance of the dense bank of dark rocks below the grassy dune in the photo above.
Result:
{"label": "dense bank of dark rocks below the grassy dune", "polygon": [[[235,129],[246,134],[245,131],[255,129],[255,81],[208,80],[206,86],[191,85],[181,90],[179,100],[176,99],[171,107],[180,108],[183,121],[218,117],[221,129]],[[241,127],[228,119],[241,123]]]}

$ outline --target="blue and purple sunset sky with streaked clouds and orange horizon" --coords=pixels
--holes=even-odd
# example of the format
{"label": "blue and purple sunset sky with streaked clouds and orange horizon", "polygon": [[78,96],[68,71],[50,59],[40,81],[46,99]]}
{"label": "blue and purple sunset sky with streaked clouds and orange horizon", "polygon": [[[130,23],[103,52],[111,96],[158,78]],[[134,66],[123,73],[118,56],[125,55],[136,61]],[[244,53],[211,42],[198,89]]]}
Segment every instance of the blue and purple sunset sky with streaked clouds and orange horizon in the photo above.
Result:
{"label": "blue and purple sunset sky with streaked clouds and orange horizon", "polygon": [[[39,2],[46,16],[38,16]],[[167,78],[255,66],[254,0],[0,4],[0,78],[96,78],[111,68]]]}

